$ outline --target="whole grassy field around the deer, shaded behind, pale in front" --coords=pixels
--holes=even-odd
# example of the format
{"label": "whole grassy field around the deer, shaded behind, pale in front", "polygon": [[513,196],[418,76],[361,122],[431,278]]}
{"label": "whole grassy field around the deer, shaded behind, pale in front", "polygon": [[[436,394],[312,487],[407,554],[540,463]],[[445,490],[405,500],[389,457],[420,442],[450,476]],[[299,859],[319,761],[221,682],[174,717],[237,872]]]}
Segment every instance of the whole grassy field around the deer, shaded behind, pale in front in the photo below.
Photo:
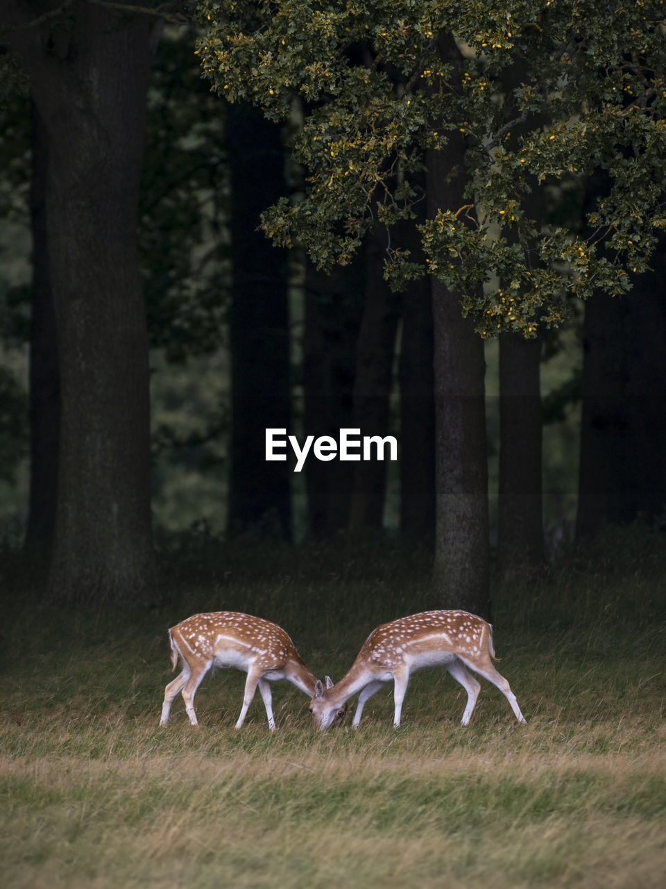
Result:
{"label": "whole grassy field around the deer, shaded behind, pale in front", "polygon": [[257,695],[235,732],[234,670],[204,680],[198,730],[180,698],[157,725],[173,623],[258,613],[338,678],[377,623],[447,605],[417,554],[236,551],[216,573],[190,553],[149,614],[19,597],[2,628],[3,885],[661,887],[666,541],[629,538],[495,590],[498,666],[527,725],[483,682],[462,728],[464,692],[437,670],[413,677],[397,731],[385,692],[358,731],[314,733],[281,683],[278,730]]}

